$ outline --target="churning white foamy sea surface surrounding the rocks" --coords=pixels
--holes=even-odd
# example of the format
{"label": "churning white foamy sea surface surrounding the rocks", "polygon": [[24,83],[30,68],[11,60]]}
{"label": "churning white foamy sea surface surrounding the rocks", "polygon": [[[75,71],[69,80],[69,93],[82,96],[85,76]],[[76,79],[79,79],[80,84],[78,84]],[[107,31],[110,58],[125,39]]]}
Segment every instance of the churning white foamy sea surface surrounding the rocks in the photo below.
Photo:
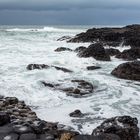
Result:
{"label": "churning white foamy sea surface surrounding the rocks", "polygon": [[[75,52],[54,52],[58,47],[75,49],[90,43],[66,43],[58,38],[86,31],[89,26],[0,26],[0,94],[24,100],[46,121],[59,122],[81,133],[90,134],[105,118],[131,115],[140,122],[140,83],[118,79],[111,71],[126,62],[111,57],[111,62],[93,58],[79,58]],[[121,51],[130,46],[118,46]],[[68,68],[73,73],[56,69],[26,69],[28,64],[48,64]],[[87,66],[102,67],[88,71]],[[96,89],[89,96],[74,98],[44,87],[40,81],[50,83],[71,79],[91,82]],[[71,118],[69,113],[80,109],[82,118]],[[140,126],[140,124],[139,124]]]}

